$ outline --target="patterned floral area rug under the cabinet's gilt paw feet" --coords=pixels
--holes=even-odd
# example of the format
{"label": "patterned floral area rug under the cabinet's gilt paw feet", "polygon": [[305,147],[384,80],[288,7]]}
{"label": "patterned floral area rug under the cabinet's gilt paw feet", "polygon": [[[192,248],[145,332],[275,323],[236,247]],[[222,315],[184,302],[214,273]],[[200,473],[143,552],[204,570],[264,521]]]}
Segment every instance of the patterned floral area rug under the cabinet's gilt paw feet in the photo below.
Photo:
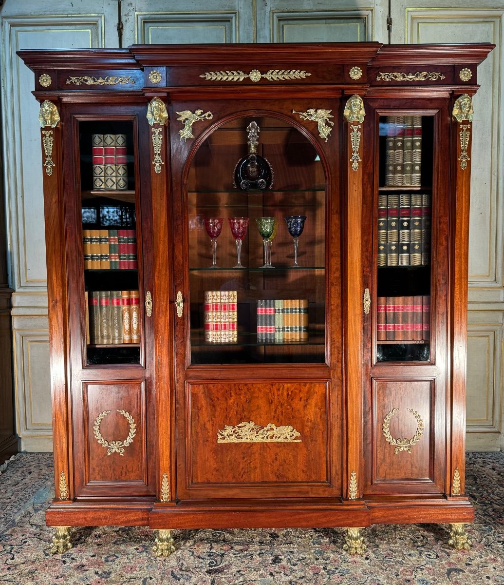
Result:
{"label": "patterned floral area rug under the cabinet's gilt paw feet", "polygon": [[53,497],[52,457],[16,456],[0,475],[0,583],[54,585],[445,585],[504,584],[504,453],[468,453],[467,493],[476,508],[468,552],[448,548],[447,525],[365,529],[363,557],[341,550],[343,530],[174,531],[177,550],[151,552],[147,528],[73,529],[74,548],[49,553],[44,512]]}

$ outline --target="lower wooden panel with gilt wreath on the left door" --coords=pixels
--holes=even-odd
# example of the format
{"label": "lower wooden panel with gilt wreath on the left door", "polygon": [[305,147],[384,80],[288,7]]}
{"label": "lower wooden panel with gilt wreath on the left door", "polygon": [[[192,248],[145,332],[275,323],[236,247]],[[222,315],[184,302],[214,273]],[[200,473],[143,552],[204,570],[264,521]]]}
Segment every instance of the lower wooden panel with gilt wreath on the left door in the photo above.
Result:
{"label": "lower wooden panel with gilt wreath on the left door", "polygon": [[[131,381],[121,383],[84,383],[87,403],[87,481],[94,482],[140,482],[147,484],[147,460],[145,444],[145,383]],[[99,432],[108,443],[124,442],[130,432],[130,422],[123,410],[134,419],[135,436],[123,447],[124,453],[111,452],[95,437],[96,418],[104,411],[110,411],[100,425]]]}

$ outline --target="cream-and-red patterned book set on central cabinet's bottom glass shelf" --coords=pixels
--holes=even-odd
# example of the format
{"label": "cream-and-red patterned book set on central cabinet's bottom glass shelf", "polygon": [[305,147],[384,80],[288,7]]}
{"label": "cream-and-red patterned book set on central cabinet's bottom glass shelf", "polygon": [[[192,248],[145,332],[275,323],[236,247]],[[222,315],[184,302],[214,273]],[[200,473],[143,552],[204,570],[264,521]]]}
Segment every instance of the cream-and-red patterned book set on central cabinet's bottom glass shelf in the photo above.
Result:
{"label": "cream-and-red patterned book set on central cabinet's bottom glass shelf", "polygon": [[207,343],[237,343],[237,291],[205,291],[203,339]]}

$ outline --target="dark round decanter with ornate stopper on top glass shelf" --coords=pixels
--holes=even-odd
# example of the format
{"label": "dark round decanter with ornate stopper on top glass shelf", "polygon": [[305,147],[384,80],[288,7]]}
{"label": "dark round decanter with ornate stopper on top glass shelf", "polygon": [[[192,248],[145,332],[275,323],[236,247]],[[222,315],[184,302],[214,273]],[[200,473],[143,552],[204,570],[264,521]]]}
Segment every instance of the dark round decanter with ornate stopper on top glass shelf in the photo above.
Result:
{"label": "dark round decanter with ornate stopper on top glass shelf", "polygon": [[257,153],[259,146],[259,132],[256,122],[247,126],[248,154],[240,159],[234,167],[233,185],[236,189],[248,191],[259,189],[264,191],[273,186],[273,170],[267,159]]}

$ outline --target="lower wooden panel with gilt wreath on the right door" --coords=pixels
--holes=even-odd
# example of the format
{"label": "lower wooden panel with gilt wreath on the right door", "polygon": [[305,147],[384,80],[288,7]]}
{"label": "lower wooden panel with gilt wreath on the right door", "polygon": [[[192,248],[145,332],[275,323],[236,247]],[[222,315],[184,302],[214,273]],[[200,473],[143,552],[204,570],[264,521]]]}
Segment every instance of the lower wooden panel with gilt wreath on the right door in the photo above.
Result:
{"label": "lower wooden panel with gilt wreath on the right door", "polygon": [[[427,480],[432,477],[431,411],[434,400],[433,380],[374,380],[373,384],[373,481]],[[418,422],[409,409],[417,412],[423,421],[423,434],[411,453],[391,445],[384,436],[384,419],[392,409],[399,410],[389,422],[393,439],[412,439]],[[393,487],[391,487],[393,493]]]}

